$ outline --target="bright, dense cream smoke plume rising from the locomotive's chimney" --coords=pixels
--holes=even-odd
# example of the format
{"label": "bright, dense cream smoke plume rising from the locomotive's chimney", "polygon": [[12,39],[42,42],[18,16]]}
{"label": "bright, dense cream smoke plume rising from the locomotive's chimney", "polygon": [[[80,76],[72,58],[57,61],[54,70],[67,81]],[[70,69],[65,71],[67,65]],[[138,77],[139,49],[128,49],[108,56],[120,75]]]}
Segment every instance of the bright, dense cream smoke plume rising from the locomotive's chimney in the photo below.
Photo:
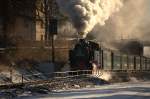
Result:
{"label": "bright, dense cream smoke plume rising from the locomotive's chimney", "polygon": [[96,24],[104,25],[122,7],[122,0],[57,0],[78,33],[85,37]]}

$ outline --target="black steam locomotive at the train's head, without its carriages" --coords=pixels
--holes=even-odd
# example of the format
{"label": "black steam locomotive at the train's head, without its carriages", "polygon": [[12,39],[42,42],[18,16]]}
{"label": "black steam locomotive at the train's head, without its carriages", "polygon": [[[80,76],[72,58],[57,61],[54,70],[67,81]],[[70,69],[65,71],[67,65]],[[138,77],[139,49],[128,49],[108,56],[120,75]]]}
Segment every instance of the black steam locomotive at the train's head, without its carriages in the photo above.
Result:
{"label": "black steam locomotive at the train's head, without its carriages", "polygon": [[95,51],[99,52],[99,44],[80,39],[70,50],[69,61],[72,70],[91,70],[95,60]]}

